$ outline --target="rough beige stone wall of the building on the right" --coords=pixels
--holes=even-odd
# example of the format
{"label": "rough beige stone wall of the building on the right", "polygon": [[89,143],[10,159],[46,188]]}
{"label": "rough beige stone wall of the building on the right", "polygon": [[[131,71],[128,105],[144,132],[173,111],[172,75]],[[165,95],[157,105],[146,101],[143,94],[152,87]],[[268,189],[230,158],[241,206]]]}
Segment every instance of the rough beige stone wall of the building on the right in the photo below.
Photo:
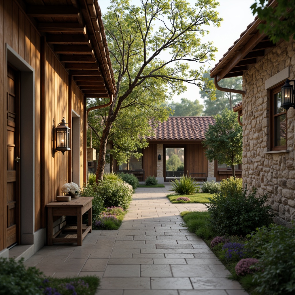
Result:
{"label": "rough beige stone wall of the building on the right", "polygon": [[[286,72],[288,74],[286,74]],[[295,111],[287,113],[287,150],[270,152],[270,83],[294,79],[295,41],[282,42],[243,75],[243,182],[268,193],[278,222],[295,219]],[[274,77],[276,75],[276,77]]]}

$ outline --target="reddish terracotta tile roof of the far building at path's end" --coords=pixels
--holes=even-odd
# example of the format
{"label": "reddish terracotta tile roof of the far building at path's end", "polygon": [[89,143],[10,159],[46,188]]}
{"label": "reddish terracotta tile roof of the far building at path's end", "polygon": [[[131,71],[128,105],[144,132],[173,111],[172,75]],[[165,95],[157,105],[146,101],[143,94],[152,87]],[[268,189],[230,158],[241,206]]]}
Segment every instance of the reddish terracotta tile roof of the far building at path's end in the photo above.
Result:
{"label": "reddish terracotta tile roof of the far building at path's end", "polygon": [[213,117],[169,117],[153,128],[155,136],[147,140],[204,140],[209,125],[215,124]]}

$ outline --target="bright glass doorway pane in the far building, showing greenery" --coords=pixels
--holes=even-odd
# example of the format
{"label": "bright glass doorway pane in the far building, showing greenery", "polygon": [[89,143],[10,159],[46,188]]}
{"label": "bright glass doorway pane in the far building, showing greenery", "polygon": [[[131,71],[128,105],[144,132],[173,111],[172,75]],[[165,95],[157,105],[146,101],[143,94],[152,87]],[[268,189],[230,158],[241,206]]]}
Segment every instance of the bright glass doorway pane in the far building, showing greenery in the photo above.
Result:
{"label": "bright glass doorway pane in the far building, showing greenery", "polygon": [[184,148],[166,148],[166,180],[184,173]]}

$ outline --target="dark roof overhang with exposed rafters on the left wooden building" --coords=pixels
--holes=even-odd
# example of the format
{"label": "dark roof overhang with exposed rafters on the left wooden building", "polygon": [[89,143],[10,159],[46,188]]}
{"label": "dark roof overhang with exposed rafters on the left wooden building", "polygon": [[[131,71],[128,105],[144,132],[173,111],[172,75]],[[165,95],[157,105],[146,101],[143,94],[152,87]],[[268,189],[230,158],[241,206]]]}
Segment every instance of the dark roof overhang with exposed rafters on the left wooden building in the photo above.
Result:
{"label": "dark roof overhang with exposed rafters on the left wooden building", "polygon": [[116,83],[97,0],[25,0],[25,12],[86,97],[114,96]]}

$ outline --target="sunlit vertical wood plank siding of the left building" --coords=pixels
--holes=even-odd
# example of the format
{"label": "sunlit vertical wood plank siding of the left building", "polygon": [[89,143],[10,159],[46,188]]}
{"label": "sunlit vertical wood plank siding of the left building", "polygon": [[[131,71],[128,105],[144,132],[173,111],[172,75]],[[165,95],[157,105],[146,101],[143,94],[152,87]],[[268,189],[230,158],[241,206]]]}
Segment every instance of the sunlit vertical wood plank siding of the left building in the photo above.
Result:
{"label": "sunlit vertical wood plank siding of the left building", "polygon": [[[69,122],[68,107],[68,72],[59,62],[50,48],[45,46],[45,93],[44,113],[41,113],[41,36],[30,19],[26,16],[17,1],[0,0],[0,186],[3,188],[0,196],[0,251],[4,249],[6,211],[6,173],[7,165],[6,131],[6,53],[5,43],[11,46],[32,68],[35,69],[35,230],[46,225],[45,205],[60,195],[61,186],[68,181],[69,155],[54,153],[54,126],[65,117]],[[44,82],[43,82],[44,83]],[[22,99],[22,98],[21,98]],[[72,82],[72,109],[80,115],[81,151],[80,162],[83,163],[83,94]],[[43,118],[44,116],[44,118]],[[44,135],[41,137],[41,120],[44,120]],[[41,165],[41,141],[44,140],[44,163]],[[44,171],[41,171],[44,169]],[[44,182],[41,189],[41,173]],[[81,183],[83,182],[83,167],[81,167]],[[44,192],[44,193],[43,193]],[[42,204],[42,206],[41,206]]]}

